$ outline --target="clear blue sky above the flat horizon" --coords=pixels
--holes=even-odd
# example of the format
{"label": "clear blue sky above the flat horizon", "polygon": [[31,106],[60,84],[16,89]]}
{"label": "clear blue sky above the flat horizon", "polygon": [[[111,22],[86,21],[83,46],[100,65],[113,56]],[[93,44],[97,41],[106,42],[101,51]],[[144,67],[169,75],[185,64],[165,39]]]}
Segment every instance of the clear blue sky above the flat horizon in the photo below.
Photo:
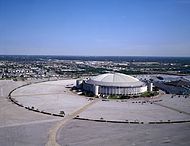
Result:
{"label": "clear blue sky above the flat horizon", "polygon": [[0,0],[0,54],[190,56],[190,0]]}

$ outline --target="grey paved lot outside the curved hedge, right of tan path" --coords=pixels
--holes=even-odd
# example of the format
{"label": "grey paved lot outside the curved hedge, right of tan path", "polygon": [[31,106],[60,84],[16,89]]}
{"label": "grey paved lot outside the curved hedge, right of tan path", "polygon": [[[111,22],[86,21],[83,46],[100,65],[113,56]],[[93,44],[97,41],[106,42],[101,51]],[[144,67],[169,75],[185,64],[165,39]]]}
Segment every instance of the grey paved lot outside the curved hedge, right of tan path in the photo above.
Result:
{"label": "grey paved lot outside the curved hedge, right of tan path", "polygon": [[190,124],[119,124],[73,120],[60,132],[61,146],[189,146]]}

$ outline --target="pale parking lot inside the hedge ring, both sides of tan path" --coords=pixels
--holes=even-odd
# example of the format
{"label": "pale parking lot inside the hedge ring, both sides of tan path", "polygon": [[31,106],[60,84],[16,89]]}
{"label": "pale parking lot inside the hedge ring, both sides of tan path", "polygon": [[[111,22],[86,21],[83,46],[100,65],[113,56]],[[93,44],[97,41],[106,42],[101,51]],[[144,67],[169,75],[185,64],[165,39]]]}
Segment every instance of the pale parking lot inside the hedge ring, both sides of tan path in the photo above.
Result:
{"label": "pale parking lot inside the hedge ring, both sides of tan path", "polygon": [[[67,114],[74,112],[88,103],[88,98],[73,94],[66,88],[75,84],[75,80],[50,81],[32,84],[19,88],[12,93],[12,97],[19,103],[34,107],[40,111],[59,114],[64,111]],[[150,102],[144,103],[149,100]],[[161,102],[152,101],[162,100]],[[101,101],[82,112],[79,117],[108,121],[188,121],[190,120],[190,98],[162,95],[156,99],[141,98],[130,99],[126,102],[119,100]]]}

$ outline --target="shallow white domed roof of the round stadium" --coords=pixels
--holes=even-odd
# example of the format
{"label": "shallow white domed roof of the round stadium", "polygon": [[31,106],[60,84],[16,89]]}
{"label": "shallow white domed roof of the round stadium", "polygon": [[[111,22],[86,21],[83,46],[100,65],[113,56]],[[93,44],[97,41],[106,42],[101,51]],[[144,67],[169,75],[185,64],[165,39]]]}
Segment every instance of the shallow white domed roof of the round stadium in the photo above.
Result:
{"label": "shallow white domed roof of the round stadium", "polygon": [[133,87],[142,86],[143,82],[129,75],[121,73],[106,73],[92,77],[87,81],[88,84],[101,86],[118,86],[118,87]]}

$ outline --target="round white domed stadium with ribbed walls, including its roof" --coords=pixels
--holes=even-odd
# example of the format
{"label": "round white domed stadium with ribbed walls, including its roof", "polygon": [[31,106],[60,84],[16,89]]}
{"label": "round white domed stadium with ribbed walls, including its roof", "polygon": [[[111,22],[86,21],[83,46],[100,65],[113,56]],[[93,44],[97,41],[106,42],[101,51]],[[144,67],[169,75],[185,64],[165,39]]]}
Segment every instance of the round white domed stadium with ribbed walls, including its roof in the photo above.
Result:
{"label": "round white domed stadium with ribbed walls, including its roof", "polygon": [[79,81],[82,89],[94,95],[139,95],[147,91],[147,85],[129,75],[121,73],[106,73]]}

